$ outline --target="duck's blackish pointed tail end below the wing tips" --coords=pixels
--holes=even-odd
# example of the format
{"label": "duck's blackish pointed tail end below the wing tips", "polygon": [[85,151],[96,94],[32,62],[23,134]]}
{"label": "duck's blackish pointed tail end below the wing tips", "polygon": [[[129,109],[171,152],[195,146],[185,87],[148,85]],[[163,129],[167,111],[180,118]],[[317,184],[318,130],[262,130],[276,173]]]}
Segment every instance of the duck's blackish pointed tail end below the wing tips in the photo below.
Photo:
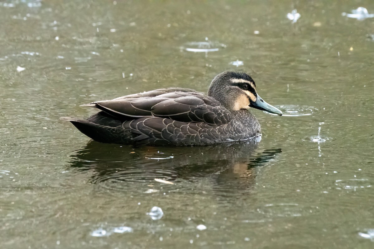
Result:
{"label": "duck's blackish pointed tail end below the wing tips", "polygon": [[70,121],[77,129],[101,143],[129,144],[133,135],[122,127],[122,122],[98,112],[87,119],[62,117],[65,121]]}

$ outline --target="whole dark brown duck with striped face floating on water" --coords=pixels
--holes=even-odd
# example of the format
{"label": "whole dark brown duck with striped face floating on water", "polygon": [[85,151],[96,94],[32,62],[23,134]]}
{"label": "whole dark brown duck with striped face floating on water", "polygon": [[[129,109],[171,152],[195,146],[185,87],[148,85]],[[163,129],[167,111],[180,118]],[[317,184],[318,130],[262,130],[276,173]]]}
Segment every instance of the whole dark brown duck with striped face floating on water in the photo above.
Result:
{"label": "whole dark brown duck with striped face floating on water", "polygon": [[214,77],[207,94],[171,87],[80,106],[99,112],[85,119],[61,119],[93,140],[153,146],[259,141],[260,123],[249,109],[282,115],[258,95],[251,76],[235,71]]}

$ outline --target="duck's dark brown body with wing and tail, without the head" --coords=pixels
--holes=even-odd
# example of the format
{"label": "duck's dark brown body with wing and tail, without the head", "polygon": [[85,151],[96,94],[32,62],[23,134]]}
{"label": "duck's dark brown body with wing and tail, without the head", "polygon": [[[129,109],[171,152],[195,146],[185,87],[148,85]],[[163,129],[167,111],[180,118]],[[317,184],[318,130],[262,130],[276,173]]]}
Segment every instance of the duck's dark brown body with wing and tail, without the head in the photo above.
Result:
{"label": "duck's dark brown body with wing and tail, without the head", "polygon": [[157,89],[83,106],[101,112],[87,119],[62,119],[104,143],[205,145],[260,136],[260,125],[249,111],[229,111],[212,97],[186,88]]}

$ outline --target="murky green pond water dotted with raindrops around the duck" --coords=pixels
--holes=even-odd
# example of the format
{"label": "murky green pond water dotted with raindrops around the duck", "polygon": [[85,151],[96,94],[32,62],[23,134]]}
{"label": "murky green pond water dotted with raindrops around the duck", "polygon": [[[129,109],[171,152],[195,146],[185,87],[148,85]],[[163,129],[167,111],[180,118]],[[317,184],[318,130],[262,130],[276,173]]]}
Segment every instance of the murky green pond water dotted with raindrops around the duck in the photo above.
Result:
{"label": "murky green pond water dotted with raindrops around the duck", "polygon": [[[0,3],[0,247],[373,248],[374,19],[341,15],[359,6],[374,13],[369,0]],[[186,51],[209,41],[218,51]],[[288,114],[252,110],[259,144],[100,144],[59,120],[155,88],[206,92],[225,70]]]}

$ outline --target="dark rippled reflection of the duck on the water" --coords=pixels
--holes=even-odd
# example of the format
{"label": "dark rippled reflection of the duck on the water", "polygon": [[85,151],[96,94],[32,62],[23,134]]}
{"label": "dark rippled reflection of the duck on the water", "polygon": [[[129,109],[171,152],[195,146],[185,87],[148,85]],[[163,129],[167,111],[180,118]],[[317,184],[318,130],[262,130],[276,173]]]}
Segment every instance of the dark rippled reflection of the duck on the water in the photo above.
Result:
{"label": "dark rippled reflection of the duck on the water", "polygon": [[280,152],[274,148],[260,151],[255,143],[133,147],[91,141],[71,155],[71,166],[79,171],[90,170],[93,183],[110,189],[126,189],[128,184],[149,188],[157,184],[155,178],[188,189],[191,182],[203,178],[213,190],[229,194],[255,183],[256,172]]}

